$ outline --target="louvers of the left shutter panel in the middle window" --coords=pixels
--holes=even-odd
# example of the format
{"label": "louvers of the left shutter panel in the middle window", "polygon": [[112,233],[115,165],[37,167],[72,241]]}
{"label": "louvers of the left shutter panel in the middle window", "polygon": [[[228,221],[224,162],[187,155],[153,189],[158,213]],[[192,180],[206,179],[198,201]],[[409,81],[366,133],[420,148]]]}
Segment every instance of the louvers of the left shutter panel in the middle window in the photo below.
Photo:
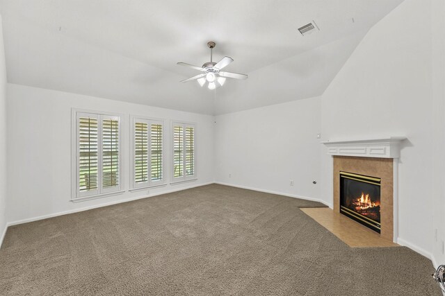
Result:
{"label": "louvers of the left shutter panel in the middle window", "polygon": [[134,182],[143,183],[148,180],[148,125],[134,124]]}

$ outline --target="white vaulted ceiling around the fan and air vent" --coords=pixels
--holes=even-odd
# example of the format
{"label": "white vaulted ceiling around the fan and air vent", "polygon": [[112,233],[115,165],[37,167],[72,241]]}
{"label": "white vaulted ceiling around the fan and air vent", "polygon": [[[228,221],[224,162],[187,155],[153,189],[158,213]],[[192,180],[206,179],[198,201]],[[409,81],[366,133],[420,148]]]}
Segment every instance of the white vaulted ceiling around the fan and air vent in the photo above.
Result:
{"label": "white vaulted ceiling around the fan and air vent", "polygon": [[[8,82],[203,114],[319,96],[402,1],[0,0]],[[176,62],[209,61],[210,40],[248,80],[179,83],[197,71]]]}

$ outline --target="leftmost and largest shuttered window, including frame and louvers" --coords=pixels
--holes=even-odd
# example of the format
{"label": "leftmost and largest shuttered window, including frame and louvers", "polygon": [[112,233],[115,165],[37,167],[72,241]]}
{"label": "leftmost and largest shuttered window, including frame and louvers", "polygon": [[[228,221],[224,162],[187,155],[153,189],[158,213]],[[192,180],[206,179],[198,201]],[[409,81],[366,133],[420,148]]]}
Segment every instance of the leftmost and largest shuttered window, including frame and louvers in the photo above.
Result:
{"label": "leftmost and largest shuttered window, including frame and louvers", "polygon": [[73,110],[72,117],[72,200],[119,192],[120,116]]}

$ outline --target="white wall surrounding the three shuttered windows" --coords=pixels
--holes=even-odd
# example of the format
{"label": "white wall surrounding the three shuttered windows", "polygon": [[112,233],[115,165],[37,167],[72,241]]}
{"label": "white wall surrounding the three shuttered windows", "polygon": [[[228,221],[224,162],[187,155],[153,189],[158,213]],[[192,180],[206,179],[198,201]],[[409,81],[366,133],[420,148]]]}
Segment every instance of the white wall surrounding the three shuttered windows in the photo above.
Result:
{"label": "white wall surrounding the three shuttered windows", "polygon": [[[129,189],[129,115],[165,121],[165,174],[170,177],[170,120],[196,123],[195,182],[126,192],[85,202],[71,198],[71,108],[117,112],[122,118],[124,189]],[[8,222],[51,216],[110,202],[213,182],[213,116],[8,84]]]}

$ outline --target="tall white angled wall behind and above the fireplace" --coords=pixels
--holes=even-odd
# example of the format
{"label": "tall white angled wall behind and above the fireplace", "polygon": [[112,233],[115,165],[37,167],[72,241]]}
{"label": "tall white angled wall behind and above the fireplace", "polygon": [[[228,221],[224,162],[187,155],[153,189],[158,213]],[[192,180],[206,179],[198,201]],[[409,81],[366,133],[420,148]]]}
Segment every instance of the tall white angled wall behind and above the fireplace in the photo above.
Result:
{"label": "tall white angled wall behind and above the fireplace", "polygon": [[[433,100],[432,96],[432,64],[436,62],[432,37],[437,36],[431,28],[431,1],[404,1],[371,28],[321,100],[325,141],[408,138],[399,164],[398,242],[427,256],[432,252],[432,211],[438,206],[434,196],[439,194],[439,184],[434,176],[443,176],[435,164],[439,151],[432,145],[437,137],[445,137],[443,119],[437,121],[434,116],[435,101],[444,98]],[[439,33],[443,34],[443,27]],[[436,107],[442,108],[443,117],[443,103]],[[435,134],[437,124],[442,125],[440,134]],[[332,196],[330,162],[323,153],[326,196]],[[443,191],[440,194],[443,209]]]}

